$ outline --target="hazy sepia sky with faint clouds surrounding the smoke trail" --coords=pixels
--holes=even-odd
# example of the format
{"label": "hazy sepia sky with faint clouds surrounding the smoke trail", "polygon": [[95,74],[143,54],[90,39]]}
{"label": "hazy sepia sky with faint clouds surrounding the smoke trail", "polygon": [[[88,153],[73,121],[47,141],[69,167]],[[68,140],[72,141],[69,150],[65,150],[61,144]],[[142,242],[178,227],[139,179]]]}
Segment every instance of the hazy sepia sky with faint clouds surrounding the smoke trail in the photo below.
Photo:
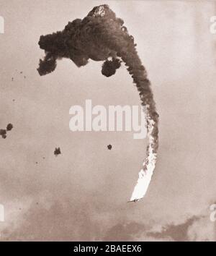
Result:
{"label": "hazy sepia sky with faint clouds surrounding the smoke trail", "polygon": [[[69,108],[86,99],[140,103],[125,67],[107,78],[102,62],[78,68],[63,59],[55,72],[37,73],[40,35],[63,30],[99,4],[109,4],[134,36],[160,114],[156,170],[136,204],[127,200],[145,140],[68,126]],[[216,240],[213,15],[215,1],[0,0],[0,128],[14,125],[0,138],[2,240]],[[62,154],[55,157],[57,147]]]}

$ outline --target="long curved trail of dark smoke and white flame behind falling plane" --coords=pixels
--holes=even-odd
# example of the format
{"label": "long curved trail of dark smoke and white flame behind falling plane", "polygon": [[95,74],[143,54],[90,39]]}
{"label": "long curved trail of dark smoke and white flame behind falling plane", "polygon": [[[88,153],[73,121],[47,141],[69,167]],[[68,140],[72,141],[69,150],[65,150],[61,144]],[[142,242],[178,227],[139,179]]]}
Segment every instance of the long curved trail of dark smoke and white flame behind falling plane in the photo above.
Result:
{"label": "long curved trail of dark smoke and white flame behind falling plane", "polygon": [[45,50],[45,58],[40,59],[37,70],[40,75],[53,72],[57,60],[61,58],[71,59],[77,67],[93,59],[104,61],[102,74],[109,77],[125,62],[147,116],[147,155],[130,198],[131,201],[137,201],[145,195],[156,165],[158,114],[150,81],[136,51],[134,38],[123,24],[123,20],[117,18],[107,5],[94,7],[83,20],[73,20],[68,22],[63,31],[40,37],[39,45]]}

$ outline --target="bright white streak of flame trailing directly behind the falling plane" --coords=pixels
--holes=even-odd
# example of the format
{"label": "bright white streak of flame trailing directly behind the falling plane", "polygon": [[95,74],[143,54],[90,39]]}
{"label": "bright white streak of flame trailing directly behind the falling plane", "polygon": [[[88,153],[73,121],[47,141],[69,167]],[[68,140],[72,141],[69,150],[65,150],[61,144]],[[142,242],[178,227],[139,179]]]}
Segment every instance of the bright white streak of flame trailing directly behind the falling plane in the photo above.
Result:
{"label": "bright white streak of flame trailing directly behind the falling plane", "polygon": [[[148,111],[147,106],[147,111]],[[154,143],[154,138],[152,136],[153,132],[153,127],[155,122],[150,119],[150,116],[147,114],[147,119],[148,119],[148,155],[143,162],[143,168],[139,172],[139,178],[138,182],[135,185],[135,188],[132,192],[132,196],[130,197],[130,201],[133,200],[140,200],[145,196],[145,193],[147,192],[148,185],[150,184],[151,177],[153,175],[153,170],[156,167],[156,157],[157,154],[153,153],[153,143]]]}

